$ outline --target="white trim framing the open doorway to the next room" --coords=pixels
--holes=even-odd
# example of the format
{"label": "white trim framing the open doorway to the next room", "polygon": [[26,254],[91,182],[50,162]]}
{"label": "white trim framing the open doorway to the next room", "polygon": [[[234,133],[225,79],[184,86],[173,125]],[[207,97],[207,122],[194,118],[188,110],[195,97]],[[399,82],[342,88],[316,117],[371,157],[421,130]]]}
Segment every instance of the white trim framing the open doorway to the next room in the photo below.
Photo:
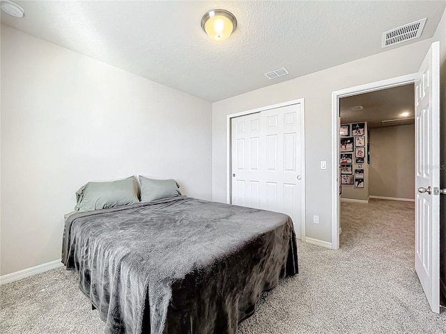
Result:
{"label": "white trim framing the open doorway to the next room", "polygon": [[392,88],[412,84],[417,79],[417,73],[403,75],[371,82],[360,86],[344,88],[332,92],[332,248],[339,249],[339,99],[351,95],[373,92],[385,88]]}

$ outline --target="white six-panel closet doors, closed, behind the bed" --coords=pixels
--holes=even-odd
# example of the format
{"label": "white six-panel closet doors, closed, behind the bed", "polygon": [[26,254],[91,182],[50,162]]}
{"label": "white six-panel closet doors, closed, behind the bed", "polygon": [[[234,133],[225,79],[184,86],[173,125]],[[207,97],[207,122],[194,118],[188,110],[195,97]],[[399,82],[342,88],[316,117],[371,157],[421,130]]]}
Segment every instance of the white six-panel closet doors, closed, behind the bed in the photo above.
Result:
{"label": "white six-panel closet doors, closed, behind the bed", "polygon": [[231,118],[232,204],[288,214],[302,238],[301,104]]}

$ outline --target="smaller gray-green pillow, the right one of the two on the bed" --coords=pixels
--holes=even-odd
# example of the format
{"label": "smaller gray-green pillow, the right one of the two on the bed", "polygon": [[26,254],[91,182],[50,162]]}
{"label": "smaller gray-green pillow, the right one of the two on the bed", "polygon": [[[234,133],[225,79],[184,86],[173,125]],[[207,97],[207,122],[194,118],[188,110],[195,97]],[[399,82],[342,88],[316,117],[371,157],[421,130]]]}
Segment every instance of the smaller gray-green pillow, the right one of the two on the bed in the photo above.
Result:
{"label": "smaller gray-green pillow, the right one of the two on the bed", "polygon": [[141,184],[141,202],[181,195],[174,179],[154,180],[139,175],[139,183]]}

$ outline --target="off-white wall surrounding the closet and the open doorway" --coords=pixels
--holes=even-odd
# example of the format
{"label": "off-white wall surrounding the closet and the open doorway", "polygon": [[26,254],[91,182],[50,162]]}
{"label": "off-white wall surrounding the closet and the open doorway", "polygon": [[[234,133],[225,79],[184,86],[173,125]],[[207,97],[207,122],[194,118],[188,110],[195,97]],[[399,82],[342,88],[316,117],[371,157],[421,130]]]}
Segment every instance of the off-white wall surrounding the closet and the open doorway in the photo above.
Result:
{"label": "off-white wall surrounding the closet and the open doorway", "polygon": [[[306,232],[307,237],[330,243],[332,91],[417,72],[431,42],[433,39],[423,40],[213,103],[213,200],[226,202],[226,115],[303,97],[307,154]],[[328,162],[327,170],[319,168],[323,160]],[[312,223],[314,214],[319,215],[318,224]]]}

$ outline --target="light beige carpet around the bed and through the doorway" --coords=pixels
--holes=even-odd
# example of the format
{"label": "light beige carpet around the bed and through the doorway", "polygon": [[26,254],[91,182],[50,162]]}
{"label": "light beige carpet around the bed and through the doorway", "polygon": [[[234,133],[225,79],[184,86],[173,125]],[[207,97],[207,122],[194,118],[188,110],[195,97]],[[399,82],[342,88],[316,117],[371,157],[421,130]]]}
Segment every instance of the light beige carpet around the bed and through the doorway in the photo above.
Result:
{"label": "light beige carpet around the bed and through the doorway", "polygon": [[[298,243],[300,273],[263,294],[240,334],[446,333],[413,268],[413,202],[342,203],[341,249]],[[103,333],[75,273],[1,287],[1,333]]]}

